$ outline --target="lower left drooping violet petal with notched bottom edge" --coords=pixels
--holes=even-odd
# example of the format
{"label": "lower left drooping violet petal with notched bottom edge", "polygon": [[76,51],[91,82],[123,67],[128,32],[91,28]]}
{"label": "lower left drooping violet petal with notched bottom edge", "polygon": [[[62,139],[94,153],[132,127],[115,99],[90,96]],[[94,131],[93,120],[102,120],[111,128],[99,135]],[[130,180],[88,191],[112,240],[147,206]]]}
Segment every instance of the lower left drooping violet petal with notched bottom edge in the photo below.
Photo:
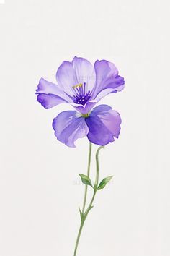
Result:
{"label": "lower left drooping violet petal with notched bottom edge", "polygon": [[76,111],[63,111],[53,119],[53,129],[58,140],[75,148],[74,142],[89,132],[86,122]]}

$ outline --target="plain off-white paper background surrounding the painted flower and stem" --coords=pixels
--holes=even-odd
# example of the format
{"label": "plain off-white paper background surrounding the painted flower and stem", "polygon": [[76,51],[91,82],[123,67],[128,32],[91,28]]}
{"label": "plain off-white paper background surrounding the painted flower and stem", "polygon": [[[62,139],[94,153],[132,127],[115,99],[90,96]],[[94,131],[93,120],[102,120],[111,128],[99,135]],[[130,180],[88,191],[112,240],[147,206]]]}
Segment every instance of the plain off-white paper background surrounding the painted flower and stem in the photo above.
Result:
{"label": "plain off-white paper background surrounding the painted flower and stem", "polygon": [[125,77],[102,100],[122,130],[101,152],[100,177],[114,179],[78,256],[169,256],[169,1],[6,0],[0,26],[0,256],[73,255],[88,142],[58,142],[52,120],[71,107],[45,110],[35,96],[73,56],[112,61]]}

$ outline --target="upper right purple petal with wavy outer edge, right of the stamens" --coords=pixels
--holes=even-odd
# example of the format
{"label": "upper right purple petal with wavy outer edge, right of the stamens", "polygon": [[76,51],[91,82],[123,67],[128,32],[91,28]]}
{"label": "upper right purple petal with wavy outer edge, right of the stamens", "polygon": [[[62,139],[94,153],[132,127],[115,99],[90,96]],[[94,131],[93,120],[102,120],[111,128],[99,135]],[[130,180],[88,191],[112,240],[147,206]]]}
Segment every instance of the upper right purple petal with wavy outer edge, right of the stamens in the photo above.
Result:
{"label": "upper right purple petal with wavy outer edge, right of the stamens", "polygon": [[108,93],[116,93],[124,88],[124,79],[118,75],[118,70],[113,63],[105,60],[96,61],[94,69],[97,79],[91,98],[97,98],[99,101]]}

